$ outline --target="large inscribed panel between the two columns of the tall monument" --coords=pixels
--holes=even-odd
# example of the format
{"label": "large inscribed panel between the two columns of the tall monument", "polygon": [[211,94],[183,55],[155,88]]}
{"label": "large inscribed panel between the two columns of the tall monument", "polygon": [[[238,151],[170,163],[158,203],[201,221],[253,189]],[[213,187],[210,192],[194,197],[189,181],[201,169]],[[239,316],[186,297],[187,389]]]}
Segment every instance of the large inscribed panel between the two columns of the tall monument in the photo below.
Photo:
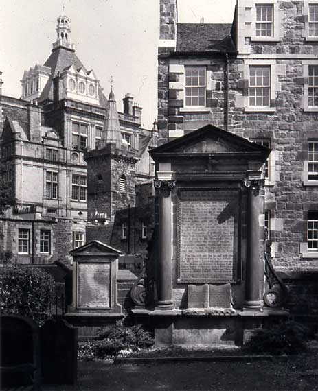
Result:
{"label": "large inscribed panel between the two columns of the tall monument", "polygon": [[237,279],[240,192],[183,190],[179,198],[178,282]]}

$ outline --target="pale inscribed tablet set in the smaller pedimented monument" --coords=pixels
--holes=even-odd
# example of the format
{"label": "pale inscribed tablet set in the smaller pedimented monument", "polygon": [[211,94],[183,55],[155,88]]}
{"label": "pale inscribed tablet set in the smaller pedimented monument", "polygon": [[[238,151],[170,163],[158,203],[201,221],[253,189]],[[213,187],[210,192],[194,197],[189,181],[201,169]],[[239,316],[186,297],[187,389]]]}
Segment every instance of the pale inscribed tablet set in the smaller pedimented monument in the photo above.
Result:
{"label": "pale inscribed tablet set in the smaller pedimented monument", "polygon": [[111,307],[109,263],[78,263],[79,309],[108,309]]}

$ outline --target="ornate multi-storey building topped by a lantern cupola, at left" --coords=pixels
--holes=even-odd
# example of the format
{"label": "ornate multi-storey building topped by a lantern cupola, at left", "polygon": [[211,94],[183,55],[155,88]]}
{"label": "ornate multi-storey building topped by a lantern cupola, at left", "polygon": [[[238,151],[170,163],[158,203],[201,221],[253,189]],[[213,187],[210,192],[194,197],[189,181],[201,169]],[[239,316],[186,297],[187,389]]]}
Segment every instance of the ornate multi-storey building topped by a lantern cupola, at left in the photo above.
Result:
{"label": "ornate multi-storey building topped by a lantern cupola, at left", "polygon": [[[88,220],[104,220],[101,205],[87,215],[84,161],[84,151],[104,145],[103,126],[111,128],[115,121],[117,142],[135,156],[136,182],[153,176],[148,147],[155,145],[157,132],[141,127],[142,108],[128,94],[123,112],[117,112],[113,92],[108,102],[95,73],[76,55],[67,16],[58,17],[56,33],[45,63],[23,73],[21,98],[0,95],[1,161],[5,184],[17,201],[1,217],[0,243],[18,263],[69,261],[69,250],[86,241]],[[134,187],[131,182],[131,202]],[[117,191],[114,187],[112,195]],[[108,218],[115,213],[114,202]]]}

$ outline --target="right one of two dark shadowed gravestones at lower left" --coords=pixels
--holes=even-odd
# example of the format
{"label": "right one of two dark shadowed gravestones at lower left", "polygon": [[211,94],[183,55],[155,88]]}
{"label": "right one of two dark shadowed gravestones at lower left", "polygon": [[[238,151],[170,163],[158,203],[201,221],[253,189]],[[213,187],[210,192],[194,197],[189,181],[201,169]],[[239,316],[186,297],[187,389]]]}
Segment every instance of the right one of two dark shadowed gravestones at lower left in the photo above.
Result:
{"label": "right one of two dark shadowed gravestones at lower left", "polygon": [[40,335],[43,382],[76,383],[78,329],[65,320],[47,320]]}

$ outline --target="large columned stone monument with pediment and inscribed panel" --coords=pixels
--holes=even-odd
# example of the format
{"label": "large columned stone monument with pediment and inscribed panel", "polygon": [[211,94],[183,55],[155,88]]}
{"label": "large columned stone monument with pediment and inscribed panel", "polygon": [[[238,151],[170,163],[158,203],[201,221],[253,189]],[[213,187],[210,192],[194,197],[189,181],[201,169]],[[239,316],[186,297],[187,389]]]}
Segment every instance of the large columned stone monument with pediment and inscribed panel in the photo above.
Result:
{"label": "large columned stone monument with pediment and inscribed panel", "polygon": [[[156,163],[157,345],[240,344],[263,311],[267,147],[208,125],[150,151]],[[148,312],[147,312],[148,311]]]}

